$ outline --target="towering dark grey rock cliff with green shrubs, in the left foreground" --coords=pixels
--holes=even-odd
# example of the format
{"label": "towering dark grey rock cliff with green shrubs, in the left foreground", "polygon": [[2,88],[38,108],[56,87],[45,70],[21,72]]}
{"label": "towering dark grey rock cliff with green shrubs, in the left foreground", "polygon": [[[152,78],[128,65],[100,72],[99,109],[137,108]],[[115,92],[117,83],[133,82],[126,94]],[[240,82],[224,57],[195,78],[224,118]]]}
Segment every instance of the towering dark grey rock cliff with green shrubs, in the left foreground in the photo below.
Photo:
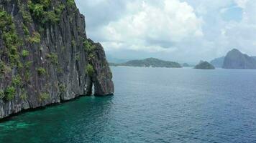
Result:
{"label": "towering dark grey rock cliff with green shrubs, in the left foreground", "polygon": [[0,119],[91,94],[114,93],[101,44],[73,0],[0,1]]}

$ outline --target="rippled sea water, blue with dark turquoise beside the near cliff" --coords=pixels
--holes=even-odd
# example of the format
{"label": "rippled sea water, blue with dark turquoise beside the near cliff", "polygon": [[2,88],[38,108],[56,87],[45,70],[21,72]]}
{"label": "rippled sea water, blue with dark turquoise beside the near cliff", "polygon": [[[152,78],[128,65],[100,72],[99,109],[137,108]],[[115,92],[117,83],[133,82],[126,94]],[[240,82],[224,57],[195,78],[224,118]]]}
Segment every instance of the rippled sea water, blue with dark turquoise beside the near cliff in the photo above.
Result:
{"label": "rippled sea water, blue with dark turquoise beside the near cliff", "polygon": [[112,67],[113,97],[0,123],[0,142],[256,142],[256,71]]}

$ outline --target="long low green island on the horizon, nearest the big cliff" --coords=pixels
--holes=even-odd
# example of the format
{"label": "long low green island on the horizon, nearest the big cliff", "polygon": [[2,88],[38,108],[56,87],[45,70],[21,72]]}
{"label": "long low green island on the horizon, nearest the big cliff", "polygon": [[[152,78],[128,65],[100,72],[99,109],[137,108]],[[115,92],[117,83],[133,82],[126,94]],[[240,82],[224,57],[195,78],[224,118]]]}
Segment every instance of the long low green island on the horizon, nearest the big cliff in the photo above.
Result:
{"label": "long low green island on the horizon, nearest the big cliff", "polygon": [[167,67],[167,68],[181,68],[178,62],[163,61],[156,58],[147,58],[139,60],[131,60],[121,64],[109,63],[109,66],[139,66],[139,67]]}

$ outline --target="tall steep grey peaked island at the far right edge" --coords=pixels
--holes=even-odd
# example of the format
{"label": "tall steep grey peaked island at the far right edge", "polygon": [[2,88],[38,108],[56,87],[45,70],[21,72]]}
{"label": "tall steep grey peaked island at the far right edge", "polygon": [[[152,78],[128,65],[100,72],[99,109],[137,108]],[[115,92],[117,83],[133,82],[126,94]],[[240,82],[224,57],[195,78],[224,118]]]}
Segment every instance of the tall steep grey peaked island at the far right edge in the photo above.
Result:
{"label": "tall steep grey peaked island at the far right edge", "polygon": [[256,59],[242,54],[237,49],[232,49],[225,56],[224,69],[256,69]]}

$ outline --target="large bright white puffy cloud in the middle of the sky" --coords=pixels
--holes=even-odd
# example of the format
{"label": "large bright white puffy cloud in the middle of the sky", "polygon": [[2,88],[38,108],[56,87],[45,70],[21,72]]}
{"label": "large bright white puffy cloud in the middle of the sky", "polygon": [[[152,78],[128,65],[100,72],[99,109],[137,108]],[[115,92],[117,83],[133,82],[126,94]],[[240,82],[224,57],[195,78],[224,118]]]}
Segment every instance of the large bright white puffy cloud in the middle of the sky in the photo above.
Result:
{"label": "large bright white puffy cloud in the middle of the sky", "polygon": [[170,46],[162,47],[157,43],[147,46],[147,42],[180,42],[188,37],[204,36],[202,19],[186,2],[165,0],[160,6],[155,6],[148,1],[133,1],[127,7],[127,15],[101,29],[101,34],[106,37],[103,44],[107,50],[116,49],[116,45],[121,48],[124,44],[120,43],[124,42],[125,49],[173,51]]}

